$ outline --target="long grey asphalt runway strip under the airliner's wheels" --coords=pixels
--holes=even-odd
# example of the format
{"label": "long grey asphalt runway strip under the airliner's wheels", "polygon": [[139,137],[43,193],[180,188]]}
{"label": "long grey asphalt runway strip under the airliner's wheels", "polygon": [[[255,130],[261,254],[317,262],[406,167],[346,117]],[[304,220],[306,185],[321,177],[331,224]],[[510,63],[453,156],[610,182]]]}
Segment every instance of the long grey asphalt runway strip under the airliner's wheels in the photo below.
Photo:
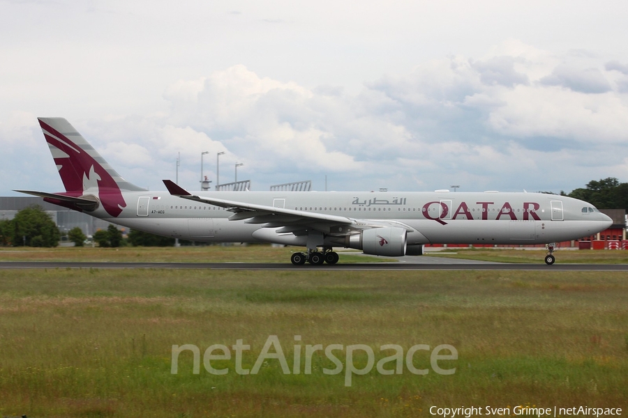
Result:
{"label": "long grey asphalt runway strip under the airliner's wheels", "polygon": [[[405,257],[404,257],[405,258]],[[413,257],[419,258],[419,257]],[[432,260],[430,258],[435,258]],[[437,262],[438,261],[438,262]],[[199,270],[370,270],[370,271],[417,271],[417,270],[523,270],[523,271],[624,271],[628,264],[554,264],[544,263],[490,263],[438,257],[421,257],[412,262],[401,260],[398,263],[338,263],[335,265],[292,265],[291,263],[117,263],[117,262],[68,262],[68,261],[2,261],[0,269],[27,268],[75,268],[75,269],[199,269]]]}

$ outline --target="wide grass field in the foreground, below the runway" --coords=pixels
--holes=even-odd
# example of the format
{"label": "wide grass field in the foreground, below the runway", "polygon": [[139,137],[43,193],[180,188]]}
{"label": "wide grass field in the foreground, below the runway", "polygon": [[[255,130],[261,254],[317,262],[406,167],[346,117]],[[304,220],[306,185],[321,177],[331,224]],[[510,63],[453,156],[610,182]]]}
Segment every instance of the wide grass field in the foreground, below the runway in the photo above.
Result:
{"label": "wide grass field in the foreground, below the runway", "polygon": [[[123,250],[121,250],[123,251]],[[119,252],[121,252],[119,251]],[[247,250],[248,251],[248,250]],[[257,250],[256,250],[257,251]],[[4,251],[0,251],[3,256]],[[165,256],[164,257],[170,257]],[[283,256],[282,256],[283,257]],[[251,256],[251,259],[255,256]],[[108,259],[108,258],[107,258]],[[241,260],[241,259],[240,259]],[[282,258],[285,261],[285,258]],[[0,270],[0,416],[414,417],[432,405],[627,407],[625,273]],[[435,373],[428,351],[408,371],[337,375],[278,359],[210,374],[191,352],[171,373],[172,345],[231,348],[252,369],[268,337],[294,348],[454,346]],[[301,341],[294,339],[301,336]],[[218,354],[220,352],[216,352]],[[271,353],[274,350],[271,349]],[[356,352],[352,363],[366,366]],[[301,356],[304,354],[302,353]],[[394,369],[388,363],[386,369]]]}

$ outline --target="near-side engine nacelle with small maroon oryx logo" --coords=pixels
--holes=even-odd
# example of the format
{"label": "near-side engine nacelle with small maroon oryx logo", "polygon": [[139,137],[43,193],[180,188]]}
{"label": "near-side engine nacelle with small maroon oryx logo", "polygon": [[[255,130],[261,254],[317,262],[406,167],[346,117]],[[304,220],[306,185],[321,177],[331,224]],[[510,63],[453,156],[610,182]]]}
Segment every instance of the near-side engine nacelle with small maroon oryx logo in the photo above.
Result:
{"label": "near-side engine nacelle with small maroon oryx logo", "polygon": [[364,254],[374,256],[405,256],[408,232],[395,226],[365,229],[359,234],[349,235],[345,247],[361,249]]}

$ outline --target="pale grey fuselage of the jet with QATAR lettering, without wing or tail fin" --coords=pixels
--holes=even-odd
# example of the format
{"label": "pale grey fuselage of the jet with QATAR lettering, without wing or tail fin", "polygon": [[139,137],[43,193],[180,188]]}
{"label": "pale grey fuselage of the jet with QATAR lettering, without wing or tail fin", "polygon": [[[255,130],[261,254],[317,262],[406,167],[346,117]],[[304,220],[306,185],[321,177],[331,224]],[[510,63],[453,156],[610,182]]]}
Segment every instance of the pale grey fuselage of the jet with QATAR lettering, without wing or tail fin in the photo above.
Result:
{"label": "pale grey fuselage of the jet with QATAR lettering, without wing or tail fin", "polygon": [[[590,203],[539,193],[451,192],[195,192],[200,197],[355,219],[357,224],[409,226],[408,245],[542,244],[603,231],[611,219]],[[278,242],[305,245],[306,238],[276,233],[273,224],[229,220],[229,210],[171,196],[124,192],[118,217],[98,208],[91,215],[159,235],[204,242]],[[281,223],[281,216],[277,216]],[[409,230],[410,230],[409,229]]]}

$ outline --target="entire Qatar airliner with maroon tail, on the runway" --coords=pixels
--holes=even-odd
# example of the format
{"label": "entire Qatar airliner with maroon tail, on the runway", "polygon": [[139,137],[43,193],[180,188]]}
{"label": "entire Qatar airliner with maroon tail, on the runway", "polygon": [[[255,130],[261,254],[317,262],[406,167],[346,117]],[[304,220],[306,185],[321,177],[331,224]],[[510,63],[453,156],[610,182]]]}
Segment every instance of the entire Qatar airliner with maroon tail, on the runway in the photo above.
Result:
{"label": "entire Qatar airliner with maroon tail, on the runway", "polygon": [[[63,118],[39,118],[65,192],[17,190],[131,229],[204,242],[306,247],[295,265],[334,264],[332,247],[377,256],[432,244],[546,244],[612,224],[590,203],[539,193],[149,192],[121,176]],[[545,261],[553,264],[553,244]]]}

